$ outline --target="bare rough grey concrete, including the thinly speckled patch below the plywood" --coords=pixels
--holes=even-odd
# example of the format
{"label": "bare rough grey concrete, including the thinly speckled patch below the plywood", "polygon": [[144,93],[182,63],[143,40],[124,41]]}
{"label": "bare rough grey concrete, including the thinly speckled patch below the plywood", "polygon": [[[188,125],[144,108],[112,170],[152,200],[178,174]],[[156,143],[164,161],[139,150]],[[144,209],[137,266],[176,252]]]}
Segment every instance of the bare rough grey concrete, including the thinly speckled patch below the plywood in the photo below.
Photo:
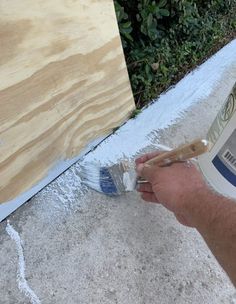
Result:
{"label": "bare rough grey concrete, including the thinly speckled patch below the plywood", "polygon": [[[153,131],[152,140],[174,146],[205,136],[235,67],[229,75],[225,90]],[[26,280],[43,304],[236,303],[234,287],[197,231],[137,193],[110,198],[81,187],[76,166],[8,220],[22,239]],[[6,225],[0,225],[0,303],[33,303],[18,288],[18,256]]]}

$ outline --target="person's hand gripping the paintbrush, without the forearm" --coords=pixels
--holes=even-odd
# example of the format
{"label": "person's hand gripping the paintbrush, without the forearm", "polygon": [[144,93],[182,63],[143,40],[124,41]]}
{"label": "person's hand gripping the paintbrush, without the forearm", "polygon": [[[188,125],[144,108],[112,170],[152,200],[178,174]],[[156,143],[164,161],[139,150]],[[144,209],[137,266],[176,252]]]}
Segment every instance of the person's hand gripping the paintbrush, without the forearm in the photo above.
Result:
{"label": "person's hand gripping the paintbrush, without the forearm", "polygon": [[181,224],[193,227],[193,208],[197,208],[202,194],[210,190],[192,163],[175,163],[166,167],[144,164],[158,154],[160,152],[149,153],[136,160],[138,176],[148,181],[139,185],[137,190],[143,200],[162,204],[175,214]]}

